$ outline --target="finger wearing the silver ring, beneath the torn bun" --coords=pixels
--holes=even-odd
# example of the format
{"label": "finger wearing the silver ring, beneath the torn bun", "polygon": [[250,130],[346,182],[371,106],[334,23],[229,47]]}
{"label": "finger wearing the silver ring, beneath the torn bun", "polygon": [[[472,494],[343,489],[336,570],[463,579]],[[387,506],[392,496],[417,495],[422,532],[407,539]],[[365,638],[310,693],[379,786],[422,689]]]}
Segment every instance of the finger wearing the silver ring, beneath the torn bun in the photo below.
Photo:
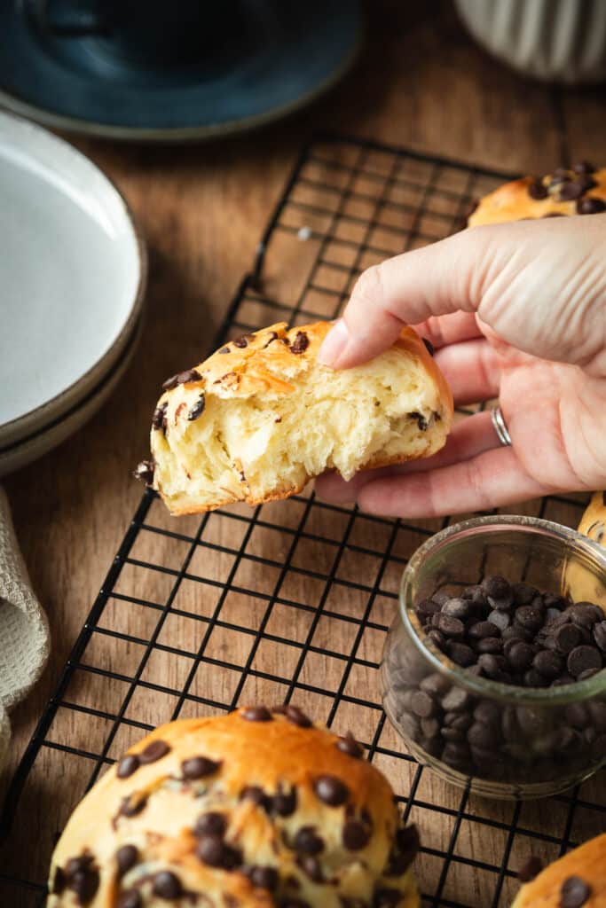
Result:
{"label": "finger wearing the silver ring, beneath the torn bun", "polygon": [[363,470],[349,482],[345,482],[338,473],[325,473],[315,481],[316,493],[320,498],[334,504],[350,504],[358,499],[365,486],[378,479],[394,479],[412,473],[420,474],[450,467],[477,457],[483,451],[491,450],[498,445],[499,439],[492,426],[491,414],[476,413],[454,426],[445,446],[433,457],[411,460],[409,463],[395,464],[392,467]]}

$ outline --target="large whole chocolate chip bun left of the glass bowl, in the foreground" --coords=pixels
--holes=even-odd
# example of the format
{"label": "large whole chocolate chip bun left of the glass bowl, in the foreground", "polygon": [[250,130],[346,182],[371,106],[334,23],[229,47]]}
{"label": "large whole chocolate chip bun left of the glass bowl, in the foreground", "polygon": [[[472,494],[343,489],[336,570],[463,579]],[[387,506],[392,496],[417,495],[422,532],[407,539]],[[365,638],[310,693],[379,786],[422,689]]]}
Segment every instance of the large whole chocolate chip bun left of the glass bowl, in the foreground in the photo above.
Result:
{"label": "large whole chocolate chip bun left of the glass bowl, in the foreground", "polygon": [[162,725],[76,807],[47,908],[416,908],[416,830],[362,757],[294,706]]}

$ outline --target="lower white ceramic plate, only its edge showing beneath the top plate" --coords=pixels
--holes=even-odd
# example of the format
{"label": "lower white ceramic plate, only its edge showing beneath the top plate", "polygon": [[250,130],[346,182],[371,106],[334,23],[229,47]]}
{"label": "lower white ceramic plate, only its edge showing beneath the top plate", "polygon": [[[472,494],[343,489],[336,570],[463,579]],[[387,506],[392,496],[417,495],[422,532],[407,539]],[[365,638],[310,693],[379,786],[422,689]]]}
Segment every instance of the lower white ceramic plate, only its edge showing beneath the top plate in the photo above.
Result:
{"label": "lower white ceramic plate, only its edge showing beneath the top plate", "polygon": [[122,356],[108,372],[104,380],[94,390],[81,400],[71,410],[68,410],[63,419],[55,420],[50,424],[35,431],[23,441],[5,449],[0,449],[0,478],[12,473],[13,470],[25,467],[26,464],[37,460],[47,451],[56,448],[62,441],[81,429],[88,419],[104,404],[105,400],[115,390],[124,377],[124,372],[133,359],[134,350],[139,343],[143,328],[143,319],[134,325],[134,331],[129,338]]}

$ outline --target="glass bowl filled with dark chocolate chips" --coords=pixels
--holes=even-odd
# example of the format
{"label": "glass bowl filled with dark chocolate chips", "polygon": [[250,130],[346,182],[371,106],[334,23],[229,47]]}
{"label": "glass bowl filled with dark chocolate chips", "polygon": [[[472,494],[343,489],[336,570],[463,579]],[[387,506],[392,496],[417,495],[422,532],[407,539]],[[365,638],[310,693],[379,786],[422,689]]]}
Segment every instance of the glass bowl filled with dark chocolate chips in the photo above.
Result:
{"label": "glass bowl filled with dark chocolate chips", "polygon": [[[606,763],[606,550],[548,520],[448,527],[412,556],[382,657],[404,744],[454,785],[553,795]],[[582,581],[582,582],[581,582]]]}

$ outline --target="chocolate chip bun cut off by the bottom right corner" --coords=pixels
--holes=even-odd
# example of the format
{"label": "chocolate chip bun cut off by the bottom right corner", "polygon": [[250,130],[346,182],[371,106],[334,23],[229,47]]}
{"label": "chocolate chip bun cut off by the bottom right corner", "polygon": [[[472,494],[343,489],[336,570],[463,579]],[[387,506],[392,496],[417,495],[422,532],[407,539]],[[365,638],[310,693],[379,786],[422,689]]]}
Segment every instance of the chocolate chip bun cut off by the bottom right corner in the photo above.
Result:
{"label": "chocolate chip bun cut off by the bottom right corner", "polygon": [[606,834],[564,854],[522,886],[512,908],[603,908]]}

